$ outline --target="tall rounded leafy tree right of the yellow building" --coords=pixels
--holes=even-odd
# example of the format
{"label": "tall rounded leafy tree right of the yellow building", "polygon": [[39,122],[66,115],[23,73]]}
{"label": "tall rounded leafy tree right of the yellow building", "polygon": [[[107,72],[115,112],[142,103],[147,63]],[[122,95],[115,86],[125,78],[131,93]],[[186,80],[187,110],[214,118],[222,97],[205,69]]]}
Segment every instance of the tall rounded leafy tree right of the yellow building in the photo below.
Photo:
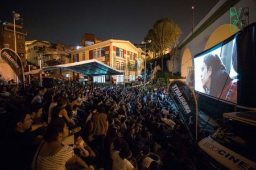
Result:
{"label": "tall rounded leafy tree right of the yellow building", "polygon": [[157,20],[153,25],[153,28],[147,32],[144,40],[152,40],[151,44],[148,44],[148,49],[160,54],[162,71],[165,50],[170,46],[175,45],[180,35],[181,29],[169,18]]}

